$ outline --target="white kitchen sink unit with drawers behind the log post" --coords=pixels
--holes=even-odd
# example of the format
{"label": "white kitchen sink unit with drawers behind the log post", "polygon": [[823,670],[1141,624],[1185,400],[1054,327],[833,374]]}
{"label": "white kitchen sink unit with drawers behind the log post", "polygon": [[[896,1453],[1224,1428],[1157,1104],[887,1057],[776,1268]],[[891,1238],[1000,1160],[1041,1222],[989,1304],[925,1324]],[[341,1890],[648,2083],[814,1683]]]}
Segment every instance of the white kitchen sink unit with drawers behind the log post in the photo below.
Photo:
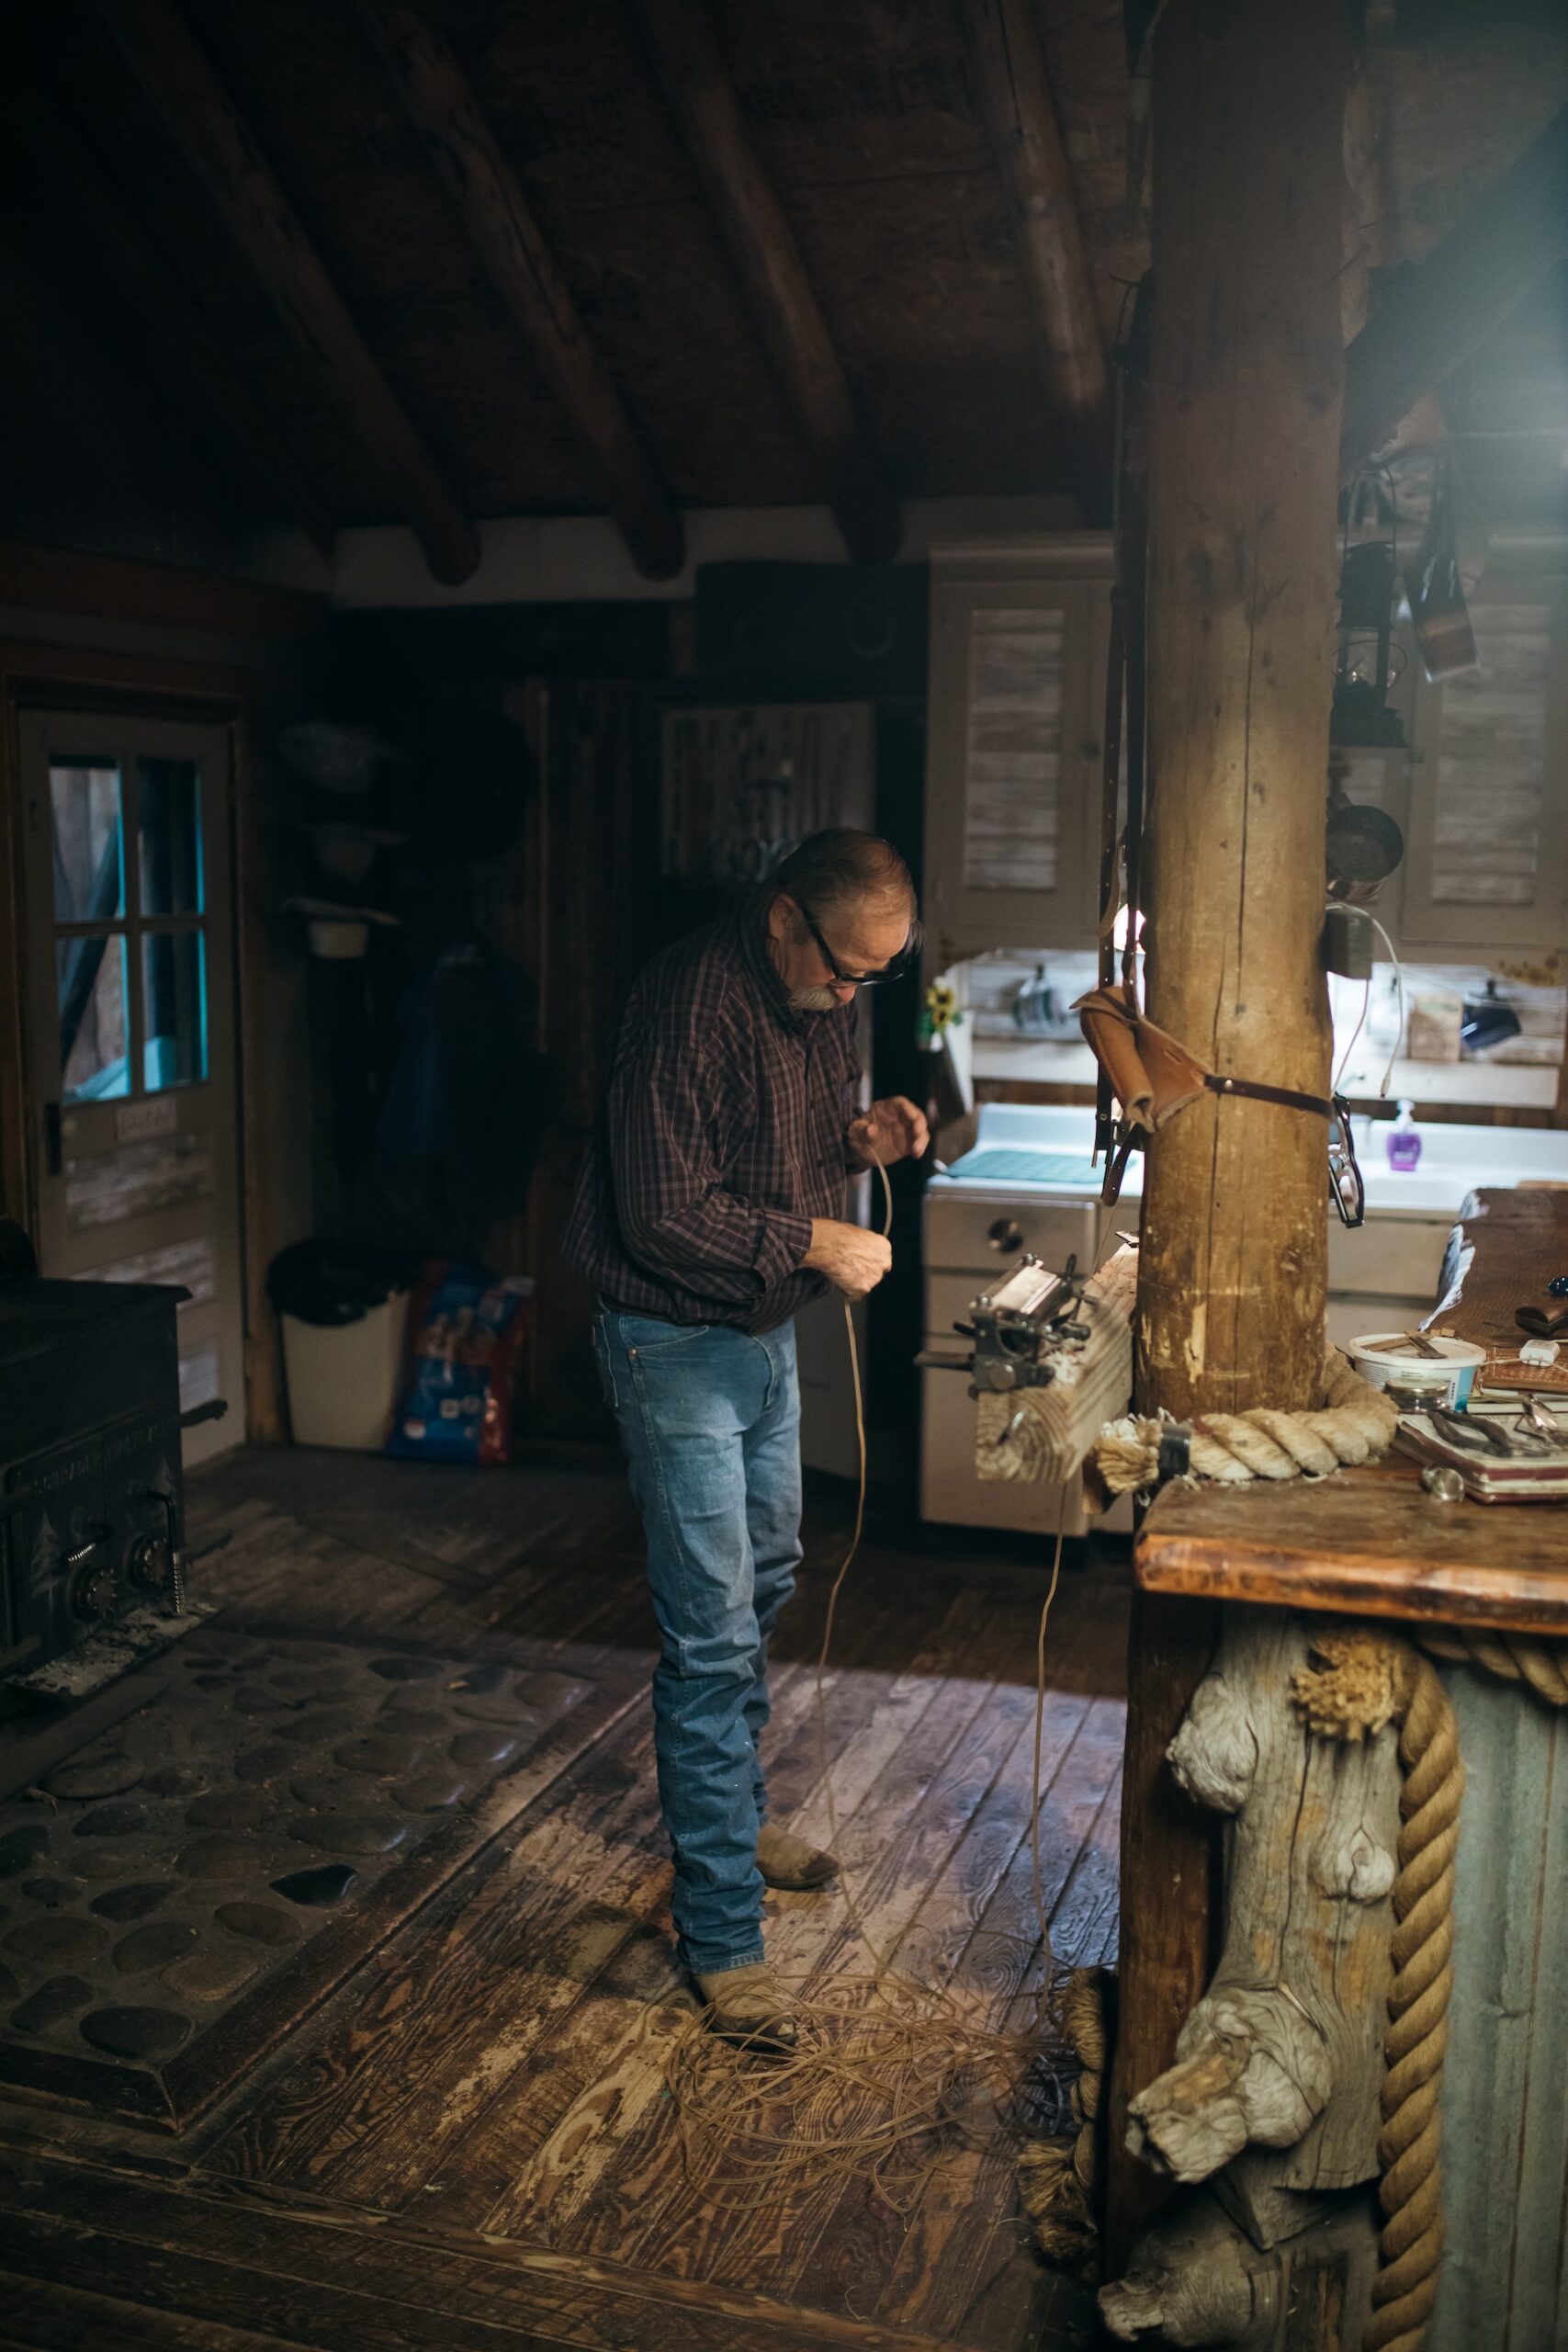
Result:
{"label": "white kitchen sink unit with drawers behind the log post", "polygon": [[[1387,1122],[1356,1120],[1366,1223],[1347,1228],[1328,1207],[1328,1338],[1399,1331],[1429,1315],[1453,1221],[1479,1185],[1568,1183],[1568,1134],[1542,1127],[1422,1127],[1413,1171],[1389,1169]],[[1093,1112],[1034,1103],[983,1103],[976,1143],[924,1197],[926,1348],[952,1350],[952,1327],[1023,1251],[1063,1268],[1100,1263],[1117,1232],[1138,1230],[1143,1157],[1133,1152],[1114,1209],[1100,1202],[1103,1169],[1088,1164]],[[1568,1272],[1568,1268],[1563,1268]],[[1056,1496],[1013,1479],[980,1479],[976,1409],[954,1371],[922,1371],[919,1510],[954,1526],[1053,1534]],[[1112,1515],[1110,1526],[1124,1524]],[[1131,1522],[1128,1522],[1131,1524]],[[1077,1503],[1065,1534],[1084,1531]]]}

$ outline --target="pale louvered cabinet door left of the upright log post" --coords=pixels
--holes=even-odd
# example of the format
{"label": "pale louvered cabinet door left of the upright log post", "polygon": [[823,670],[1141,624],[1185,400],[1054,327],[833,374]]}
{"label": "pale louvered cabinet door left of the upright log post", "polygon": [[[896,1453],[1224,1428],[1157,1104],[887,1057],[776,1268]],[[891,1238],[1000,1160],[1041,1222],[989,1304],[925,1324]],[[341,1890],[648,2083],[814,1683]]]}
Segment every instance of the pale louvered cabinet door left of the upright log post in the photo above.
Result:
{"label": "pale louvered cabinet door left of the upright log post", "polygon": [[933,588],[926,908],[938,964],[1093,946],[1091,644],[1105,597],[1105,586],[1053,579]]}

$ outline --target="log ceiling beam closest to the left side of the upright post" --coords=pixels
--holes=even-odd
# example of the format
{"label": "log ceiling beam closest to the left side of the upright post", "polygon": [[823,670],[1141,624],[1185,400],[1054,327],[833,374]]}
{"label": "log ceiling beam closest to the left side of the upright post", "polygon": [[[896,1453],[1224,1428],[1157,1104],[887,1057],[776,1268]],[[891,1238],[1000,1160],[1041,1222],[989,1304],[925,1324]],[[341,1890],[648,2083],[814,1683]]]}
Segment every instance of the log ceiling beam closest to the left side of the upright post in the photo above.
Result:
{"label": "log ceiling beam closest to the left side of the upright post", "polygon": [[1046,386],[1074,423],[1098,423],[1110,405],[1105,334],[1034,0],[964,0],[964,31]]}

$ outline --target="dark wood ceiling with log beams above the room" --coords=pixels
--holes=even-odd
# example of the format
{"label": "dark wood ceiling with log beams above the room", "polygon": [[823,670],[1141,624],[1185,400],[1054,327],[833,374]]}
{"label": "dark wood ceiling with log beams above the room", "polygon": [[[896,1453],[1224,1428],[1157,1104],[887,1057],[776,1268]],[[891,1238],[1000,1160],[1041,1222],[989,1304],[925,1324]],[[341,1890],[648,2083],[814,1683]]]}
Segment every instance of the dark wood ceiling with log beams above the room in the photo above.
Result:
{"label": "dark wood ceiling with log beams above the room", "polygon": [[[827,501],[863,560],[896,550],[905,496],[1067,489],[1103,517],[1105,355],[1147,259],[1145,19],[52,0],[2,35],[42,99],[0,82],[31,155],[78,183],[66,238],[78,216],[89,263],[143,294],[162,263],[129,365],[158,358],[136,341],[216,346],[252,470],[270,452],[277,506],[317,539],[322,510],[404,520],[458,579],[475,517],[611,513],[668,574],[689,506]],[[1568,40],[1535,0],[1497,0],[1483,40],[1436,0],[1368,0],[1368,28],[1385,266],[1422,259],[1540,132]]]}

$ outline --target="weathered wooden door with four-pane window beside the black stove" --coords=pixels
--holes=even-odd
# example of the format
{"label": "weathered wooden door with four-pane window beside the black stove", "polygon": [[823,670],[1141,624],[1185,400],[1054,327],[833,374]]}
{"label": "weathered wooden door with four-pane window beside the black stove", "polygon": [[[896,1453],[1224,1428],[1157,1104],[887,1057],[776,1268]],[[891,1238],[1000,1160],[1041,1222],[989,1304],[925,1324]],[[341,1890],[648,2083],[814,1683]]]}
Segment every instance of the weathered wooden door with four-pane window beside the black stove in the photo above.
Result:
{"label": "weathered wooden door with four-pane window beside the black stove", "polygon": [[172,1282],[186,1465],[244,1439],[228,727],[21,713],[45,1275]]}

